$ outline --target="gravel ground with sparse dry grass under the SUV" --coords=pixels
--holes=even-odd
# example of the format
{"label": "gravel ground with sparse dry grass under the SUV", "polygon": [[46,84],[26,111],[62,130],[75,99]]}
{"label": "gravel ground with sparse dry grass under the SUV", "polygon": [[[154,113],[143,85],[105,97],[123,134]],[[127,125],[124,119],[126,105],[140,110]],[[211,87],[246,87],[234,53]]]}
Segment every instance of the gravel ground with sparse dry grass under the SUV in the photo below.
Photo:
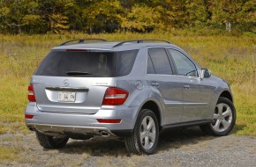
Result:
{"label": "gravel ground with sparse dry grass under the SUV", "polygon": [[212,137],[197,127],[161,134],[158,151],[151,156],[130,155],[124,142],[102,138],[42,149],[34,134],[1,134],[0,148],[14,152],[0,166],[256,166],[255,136]]}

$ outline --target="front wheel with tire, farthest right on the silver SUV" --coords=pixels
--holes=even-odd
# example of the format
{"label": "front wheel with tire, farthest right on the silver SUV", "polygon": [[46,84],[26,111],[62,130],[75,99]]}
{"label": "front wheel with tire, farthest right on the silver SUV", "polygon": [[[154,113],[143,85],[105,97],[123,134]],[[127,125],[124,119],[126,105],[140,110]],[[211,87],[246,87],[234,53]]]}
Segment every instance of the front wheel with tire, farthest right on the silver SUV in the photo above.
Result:
{"label": "front wheel with tire, farthest right on the silver SUV", "polygon": [[200,126],[205,134],[222,136],[230,134],[236,124],[236,109],[228,98],[220,97],[215,106],[213,122]]}

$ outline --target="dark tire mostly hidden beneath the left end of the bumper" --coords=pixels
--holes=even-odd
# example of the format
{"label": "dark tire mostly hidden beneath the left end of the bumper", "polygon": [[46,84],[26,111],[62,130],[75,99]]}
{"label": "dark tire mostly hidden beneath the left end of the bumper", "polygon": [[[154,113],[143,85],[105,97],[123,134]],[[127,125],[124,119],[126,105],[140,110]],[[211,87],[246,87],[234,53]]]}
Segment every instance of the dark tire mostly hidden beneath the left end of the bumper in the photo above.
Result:
{"label": "dark tire mostly hidden beneath the left end of the bumper", "polygon": [[60,149],[64,148],[66,143],[68,142],[68,137],[57,138],[54,136],[50,136],[47,134],[41,134],[38,131],[35,131],[37,141],[40,145],[45,149]]}

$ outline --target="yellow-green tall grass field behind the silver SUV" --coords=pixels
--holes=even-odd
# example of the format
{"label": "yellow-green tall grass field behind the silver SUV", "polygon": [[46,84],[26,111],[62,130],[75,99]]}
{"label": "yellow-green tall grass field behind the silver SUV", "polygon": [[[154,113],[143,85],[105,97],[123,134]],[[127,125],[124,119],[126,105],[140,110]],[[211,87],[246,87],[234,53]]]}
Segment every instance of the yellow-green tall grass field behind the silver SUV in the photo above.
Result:
{"label": "yellow-green tall grass field behind the silver SUV", "polygon": [[41,59],[66,40],[162,39],[183,47],[201,67],[229,81],[237,108],[237,134],[256,135],[255,36],[192,33],[115,33],[0,35],[0,134],[27,133],[24,124],[27,85]]}

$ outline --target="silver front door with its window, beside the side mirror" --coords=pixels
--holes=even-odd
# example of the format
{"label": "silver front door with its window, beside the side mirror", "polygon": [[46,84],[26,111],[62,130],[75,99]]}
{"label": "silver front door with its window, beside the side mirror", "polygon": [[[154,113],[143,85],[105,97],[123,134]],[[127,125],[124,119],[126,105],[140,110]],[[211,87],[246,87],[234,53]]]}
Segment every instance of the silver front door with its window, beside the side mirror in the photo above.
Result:
{"label": "silver front door with its window, beside the side mirror", "polygon": [[211,100],[211,87],[207,79],[201,79],[199,68],[186,56],[176,49],[169,49],[171,58],[175,63],[179,82],[183,87],[182,122],[206,120]]}

